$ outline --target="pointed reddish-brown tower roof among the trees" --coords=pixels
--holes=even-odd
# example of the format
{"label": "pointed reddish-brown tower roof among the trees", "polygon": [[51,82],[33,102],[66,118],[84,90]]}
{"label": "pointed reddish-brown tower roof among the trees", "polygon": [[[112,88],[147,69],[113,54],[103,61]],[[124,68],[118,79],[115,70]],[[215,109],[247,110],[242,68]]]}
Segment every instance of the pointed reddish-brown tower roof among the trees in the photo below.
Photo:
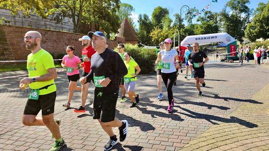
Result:
{"label": "pointed reddish-brown tower roof among the trees", "polygon": [[118,29],[116,36],[124,37],[126,41],[139,41],[133,27],[126,18],[124,18],[121,28]]}

